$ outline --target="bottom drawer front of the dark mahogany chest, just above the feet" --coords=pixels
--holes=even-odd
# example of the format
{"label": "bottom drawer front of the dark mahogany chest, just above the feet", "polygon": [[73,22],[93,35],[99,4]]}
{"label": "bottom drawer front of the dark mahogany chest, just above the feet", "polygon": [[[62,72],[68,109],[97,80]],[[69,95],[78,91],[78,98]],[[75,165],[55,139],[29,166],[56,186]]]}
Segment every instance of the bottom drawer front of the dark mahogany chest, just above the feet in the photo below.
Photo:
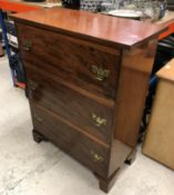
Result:
{"label": "bottom drawer front of the dark mahogany chest, just above the feet", "polygon": [[109,149],[72,129],[49,110],[31,104],[34,129],[88,166],[106,176]]}

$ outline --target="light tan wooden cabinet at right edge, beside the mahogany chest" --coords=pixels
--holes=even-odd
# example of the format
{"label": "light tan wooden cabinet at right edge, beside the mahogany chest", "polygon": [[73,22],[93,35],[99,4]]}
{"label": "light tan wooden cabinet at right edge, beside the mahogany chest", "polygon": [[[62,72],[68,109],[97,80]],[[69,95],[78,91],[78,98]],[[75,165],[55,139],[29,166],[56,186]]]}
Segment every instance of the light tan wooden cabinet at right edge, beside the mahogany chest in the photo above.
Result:
{"label": "light tan wooden cabinet at right edge, beside the mahogany chest", "polygon": [[174,60],[158,72],[153,109],[143,144],[143,154],[174,169]]}

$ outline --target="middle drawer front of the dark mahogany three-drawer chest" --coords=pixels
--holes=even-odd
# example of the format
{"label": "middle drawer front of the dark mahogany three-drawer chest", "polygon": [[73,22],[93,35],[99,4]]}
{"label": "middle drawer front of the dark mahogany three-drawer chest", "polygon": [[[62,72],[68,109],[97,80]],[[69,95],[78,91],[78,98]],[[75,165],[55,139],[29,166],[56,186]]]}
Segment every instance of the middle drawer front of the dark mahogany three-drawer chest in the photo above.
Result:
{"label": "middle drawer front of the dark mahogany three-drawer chest", "polygon": [[48,74],[27,69],[29,98],[109,144],[113,109],[74,91]]}

